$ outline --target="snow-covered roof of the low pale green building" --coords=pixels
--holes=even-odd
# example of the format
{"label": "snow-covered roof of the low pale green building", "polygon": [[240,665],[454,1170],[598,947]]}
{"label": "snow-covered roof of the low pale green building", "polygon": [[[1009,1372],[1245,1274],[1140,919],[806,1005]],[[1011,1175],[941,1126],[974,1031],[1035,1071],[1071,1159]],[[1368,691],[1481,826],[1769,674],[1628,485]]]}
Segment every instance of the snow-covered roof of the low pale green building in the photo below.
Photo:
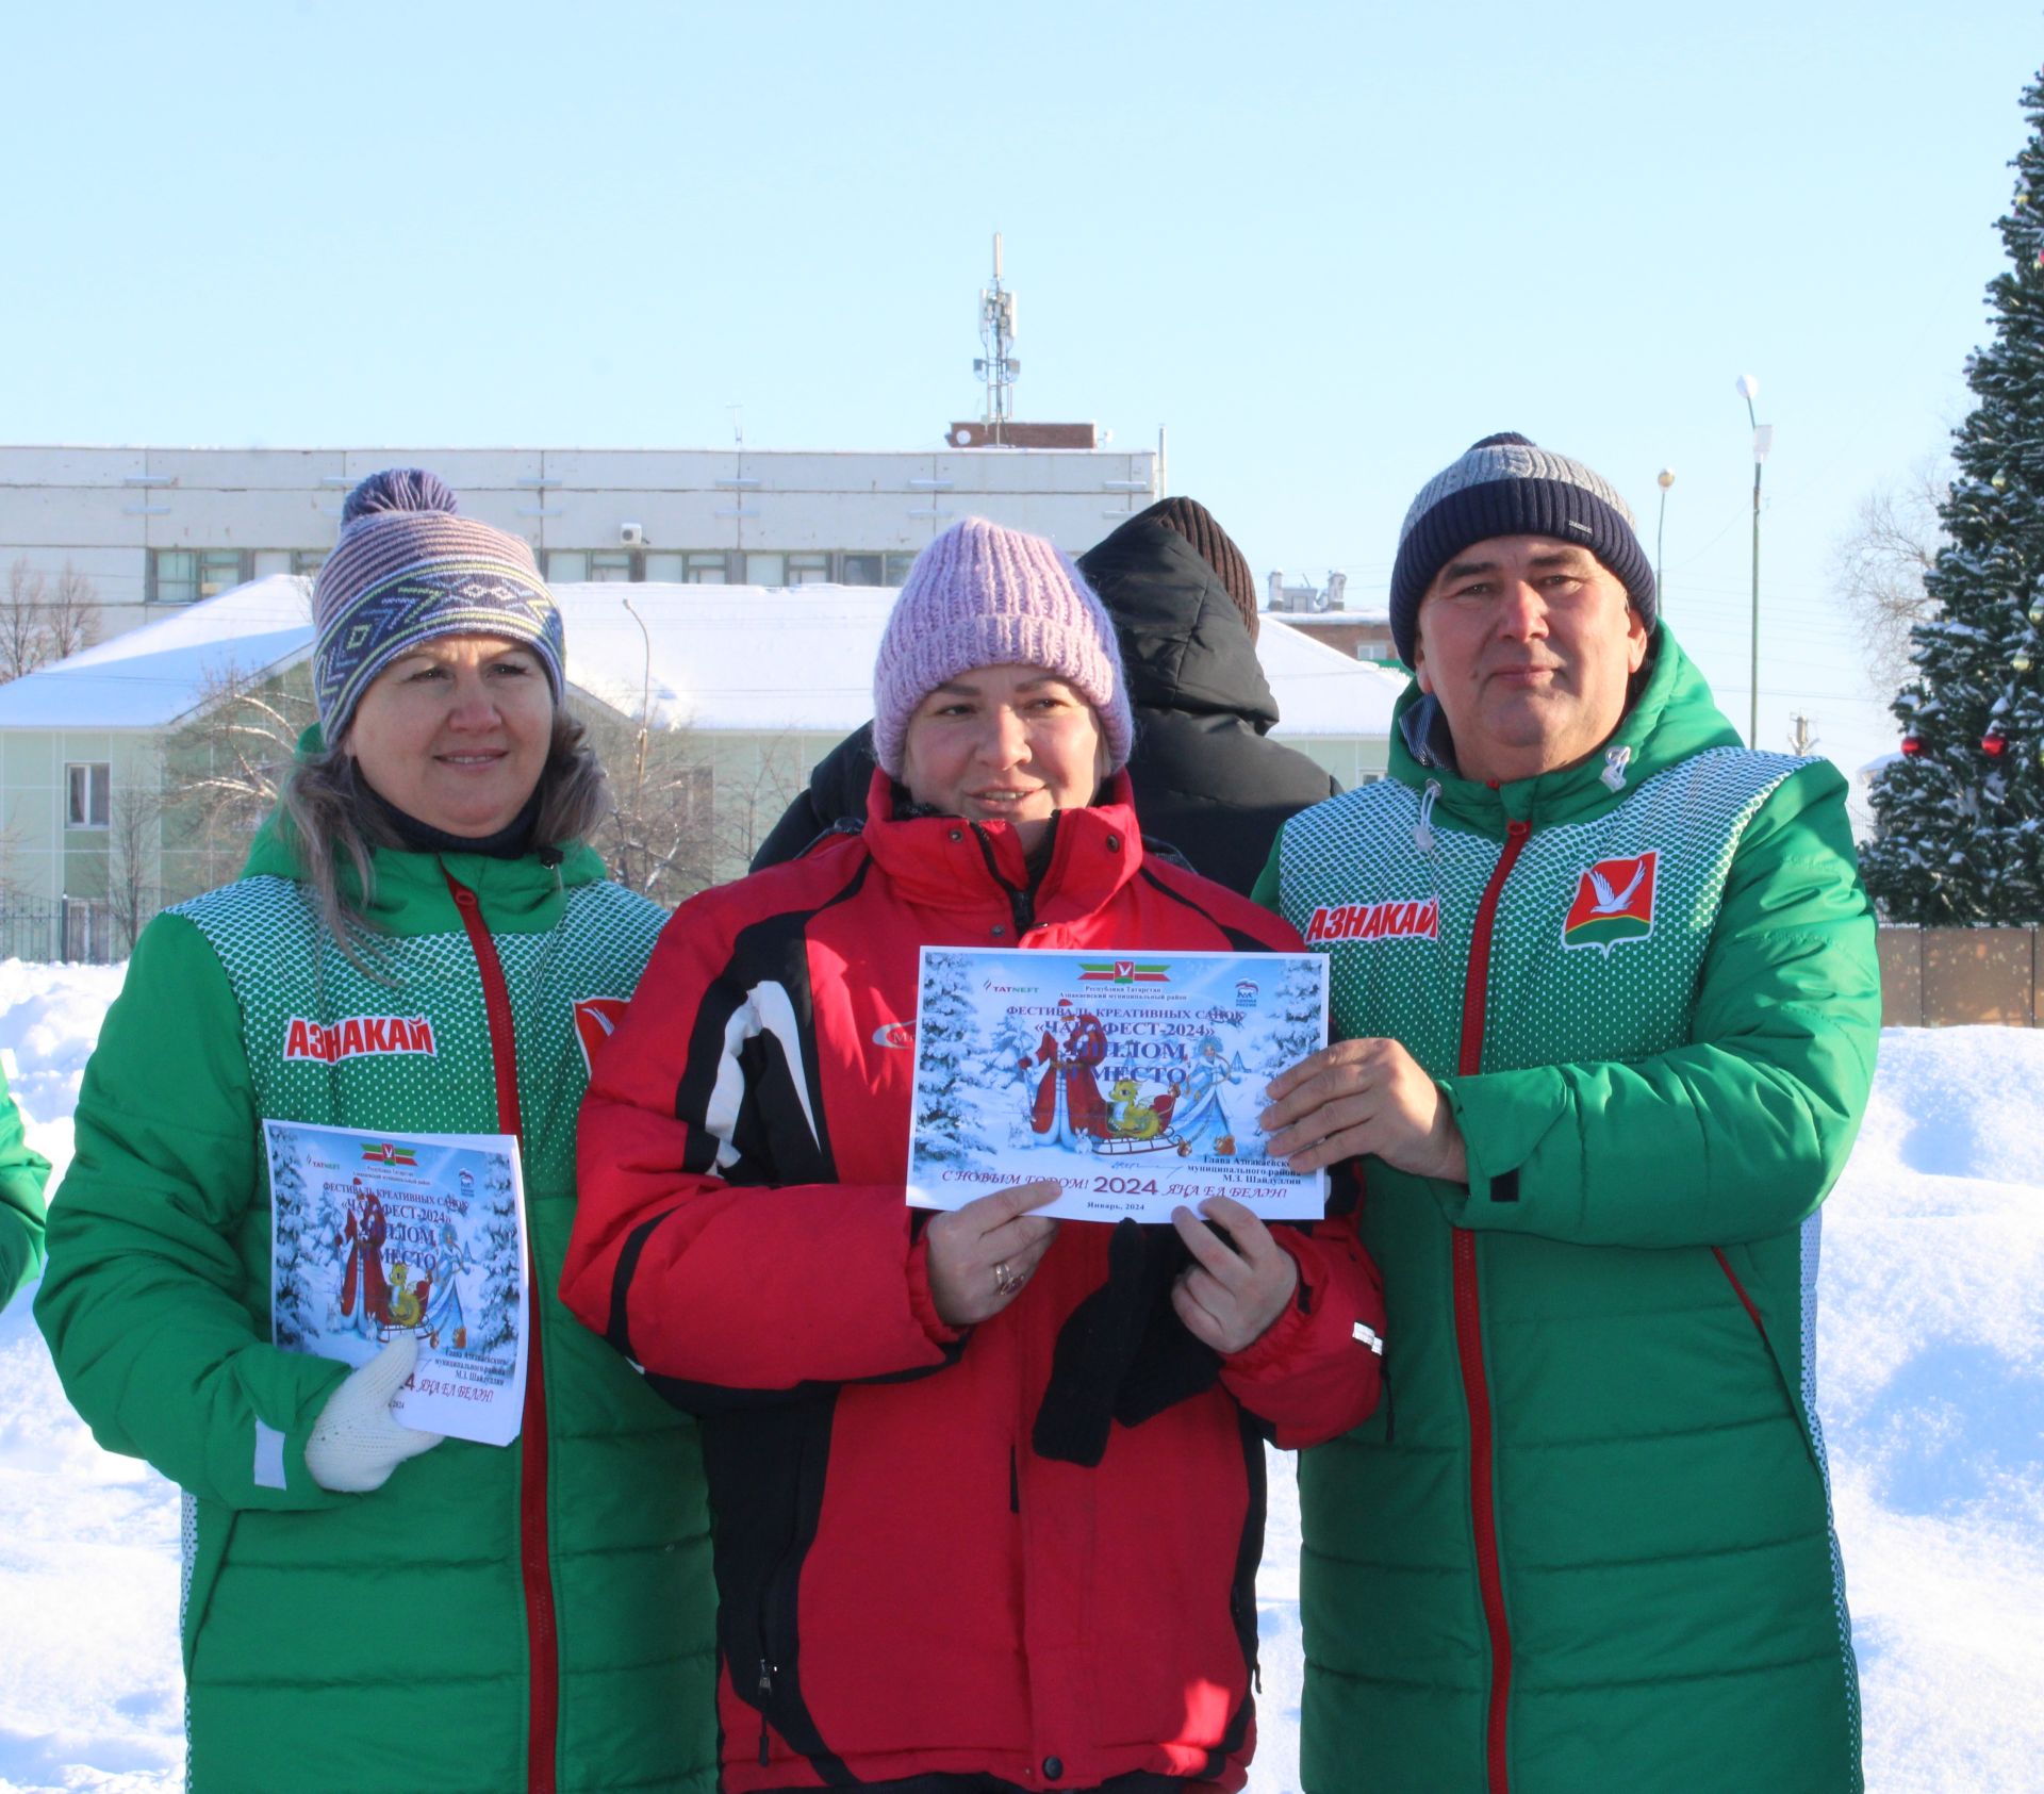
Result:
{"label": "snow-covered roof of the low pale green building", "polygon": [[[272,672],[313,648],[309,580],[272,574],[0,687],[0,729],[151,729],[227,670]],[[554,586],[568,682],[668,727],[844,734],[873,713],[889,586]],[[644,633],[642,633],[644,625]],[[1278,617],[1257,640],[1280,736],[1384,736],[1404,678]]]}

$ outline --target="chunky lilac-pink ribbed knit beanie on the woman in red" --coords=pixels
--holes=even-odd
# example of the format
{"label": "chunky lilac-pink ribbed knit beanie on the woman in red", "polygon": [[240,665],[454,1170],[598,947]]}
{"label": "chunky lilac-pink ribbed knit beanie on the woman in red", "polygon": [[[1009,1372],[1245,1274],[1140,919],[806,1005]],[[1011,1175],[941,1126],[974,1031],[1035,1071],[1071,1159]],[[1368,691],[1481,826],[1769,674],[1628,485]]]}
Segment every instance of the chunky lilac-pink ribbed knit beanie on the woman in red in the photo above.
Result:
{"label": "chunky lilac-pink ribbed knit beanie on the woman in red", "polygon": [[1118,772],[1134,742],[1114,623],[1079,570],[1040,535],[967,517],[908,570],[873,664],[873,752],[901,776],[910,717],[946,678],[977,666],[1040,666],[1100,717]]}

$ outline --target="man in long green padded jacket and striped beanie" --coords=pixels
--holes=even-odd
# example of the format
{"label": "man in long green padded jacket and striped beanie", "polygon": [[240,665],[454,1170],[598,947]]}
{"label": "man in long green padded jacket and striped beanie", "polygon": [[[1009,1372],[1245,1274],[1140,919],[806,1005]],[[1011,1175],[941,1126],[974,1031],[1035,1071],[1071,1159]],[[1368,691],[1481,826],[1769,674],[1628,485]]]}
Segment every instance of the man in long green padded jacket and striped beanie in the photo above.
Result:
{"label": "man in long green padded jacket and striped beanie", "polygon": [[1817,1203],[1872,1081],[1823,760],[1750,752],[1631,513],[1496,435],[1406,515],[1390,778],[1259,895],[1331,958],[1271,1150],[1363,1159],[1386,1398],[1300,1465],[1308,1794],[1860,1788]]}

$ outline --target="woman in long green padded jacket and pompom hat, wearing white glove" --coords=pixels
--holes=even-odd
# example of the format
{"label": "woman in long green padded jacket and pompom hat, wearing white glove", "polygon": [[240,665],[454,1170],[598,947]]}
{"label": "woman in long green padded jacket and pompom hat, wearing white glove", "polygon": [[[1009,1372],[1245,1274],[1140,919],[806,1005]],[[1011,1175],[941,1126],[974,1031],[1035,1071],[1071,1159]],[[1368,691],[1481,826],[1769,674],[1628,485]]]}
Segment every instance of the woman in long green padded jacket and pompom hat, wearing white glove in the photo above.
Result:
{"label": "woman in long green padded jacket and pompom hat, wearing white glove", "polygon": [[[585,842],[603,774],[531,552],[454,511],[415,470],[350,497],[321,729],[245,875],[137,942],[51,1216],[65,1391],[188,1492],[192,1794],[715,1782],[695,1430],[554,1297],[587,1054],[664,915]],[[415,1334],[354,1371],[272,1344],[266,1120],[519,1136],[515,1443],[392,1418]],[[358,1269],[401,1250],[364,1230]]]}

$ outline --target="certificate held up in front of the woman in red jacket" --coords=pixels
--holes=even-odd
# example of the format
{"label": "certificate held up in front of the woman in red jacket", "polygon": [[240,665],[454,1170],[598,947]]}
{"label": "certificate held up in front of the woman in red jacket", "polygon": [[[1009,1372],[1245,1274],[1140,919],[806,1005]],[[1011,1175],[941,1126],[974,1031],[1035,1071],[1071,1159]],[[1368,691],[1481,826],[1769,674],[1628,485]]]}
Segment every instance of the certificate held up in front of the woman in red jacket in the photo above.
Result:
{"label": "certificate held up in front of the woman in red jacket", "polygon": [[1230,1195],[1265,1220],[1327,1208],[1327,1173],[1263,1150],[1263,1087],[1327,1046],[1316,952],[922,950],[908,1199],[1057,1177],[1036,1210],[1169,1220]]}

